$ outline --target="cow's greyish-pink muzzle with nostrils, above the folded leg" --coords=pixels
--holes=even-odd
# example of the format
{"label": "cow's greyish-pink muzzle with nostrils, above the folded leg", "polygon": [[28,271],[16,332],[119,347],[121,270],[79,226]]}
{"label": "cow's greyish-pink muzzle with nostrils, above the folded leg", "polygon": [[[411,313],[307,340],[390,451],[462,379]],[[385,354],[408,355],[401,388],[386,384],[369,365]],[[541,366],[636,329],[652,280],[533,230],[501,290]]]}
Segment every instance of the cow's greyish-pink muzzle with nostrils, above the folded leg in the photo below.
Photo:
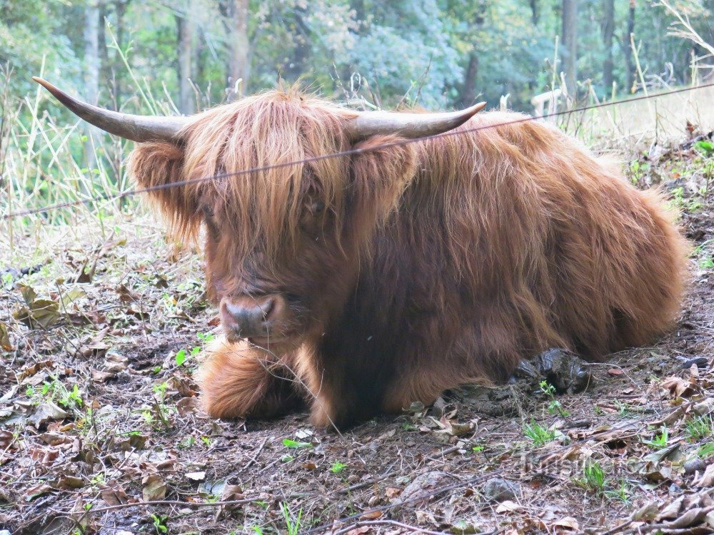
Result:
{"label": "cow's greyish-pink muzzle with nostrils, above the folded leg", "polygon": [[221,322],[232,338],[247,338],[256,345],[278,342],[276,327],[286,314],[286,302],[280,295],[223,297]]}

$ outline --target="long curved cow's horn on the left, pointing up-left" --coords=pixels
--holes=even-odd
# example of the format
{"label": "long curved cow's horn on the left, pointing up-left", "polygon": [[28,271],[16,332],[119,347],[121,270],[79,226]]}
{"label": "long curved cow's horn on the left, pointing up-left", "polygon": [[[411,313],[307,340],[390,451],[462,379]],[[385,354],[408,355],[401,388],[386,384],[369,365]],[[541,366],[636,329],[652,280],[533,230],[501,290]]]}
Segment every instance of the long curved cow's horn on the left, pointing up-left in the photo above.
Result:
{"label": "long curved cow's horn on the left, pointing up-left", "polygon": [[69,96],[46,80],[33,76],[32,79],[54,95],[58,101],[97,128],[131,141],[174,141],[176,134],[188,123],[188,117],[156,117],[131,115],[109,111],[92,106]]}

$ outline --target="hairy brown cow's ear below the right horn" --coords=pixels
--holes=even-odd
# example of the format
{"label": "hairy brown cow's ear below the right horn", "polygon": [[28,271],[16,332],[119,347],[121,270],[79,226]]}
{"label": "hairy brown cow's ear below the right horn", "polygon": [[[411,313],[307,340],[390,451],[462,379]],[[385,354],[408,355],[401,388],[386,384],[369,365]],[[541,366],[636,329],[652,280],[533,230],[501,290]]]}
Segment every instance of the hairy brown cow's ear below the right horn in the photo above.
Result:
{"label": "hairy brown cow's ear below the right horn", "polygon": [[363,149],[352,158],[349,188],[349,202],[358,217],[383,223],[414,178],[417,155],[413,143],[395,145],[398,141],[403,139],[372,136],[354,146]]}

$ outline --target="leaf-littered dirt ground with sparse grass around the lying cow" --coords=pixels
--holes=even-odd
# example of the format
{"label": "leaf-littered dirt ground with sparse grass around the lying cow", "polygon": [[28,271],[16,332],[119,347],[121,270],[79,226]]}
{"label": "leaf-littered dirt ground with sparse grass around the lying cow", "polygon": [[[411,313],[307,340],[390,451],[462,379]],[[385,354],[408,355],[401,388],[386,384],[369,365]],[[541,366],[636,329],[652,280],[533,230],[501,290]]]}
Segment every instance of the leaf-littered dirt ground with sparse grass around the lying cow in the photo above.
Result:
{"label": "leaf-littered dirt ground with sparse grass around the lying cow", "polygon": [[639,187],[662,184],[695,245],[675,330],[583,365],[584,392],[523,370],[342,434],[305,413],[201,412],[192,374],[216,310],[200,255],[151,219],[14,235],[0,264],[0,534],[714,531],[708,139],[625,164]]}

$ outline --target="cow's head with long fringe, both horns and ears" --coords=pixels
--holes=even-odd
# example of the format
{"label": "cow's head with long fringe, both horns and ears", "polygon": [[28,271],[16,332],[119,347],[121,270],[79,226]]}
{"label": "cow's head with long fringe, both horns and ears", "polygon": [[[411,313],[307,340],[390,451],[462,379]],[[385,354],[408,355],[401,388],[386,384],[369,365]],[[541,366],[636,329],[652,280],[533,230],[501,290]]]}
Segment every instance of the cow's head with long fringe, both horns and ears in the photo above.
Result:
{"label": "cow's head with long fringe, both horns and ears", "polygon": [[451,130],[484,106],[358,113],[270,91],[196,116],[147,117],[36,81],[89,123],[140,142],[131,158],[139,185],[154,188],[178,233],[205,228],[208,292],[229,340],[268,349],[320,336],[346,298],[416,170],[413,145],[392,142]]}

